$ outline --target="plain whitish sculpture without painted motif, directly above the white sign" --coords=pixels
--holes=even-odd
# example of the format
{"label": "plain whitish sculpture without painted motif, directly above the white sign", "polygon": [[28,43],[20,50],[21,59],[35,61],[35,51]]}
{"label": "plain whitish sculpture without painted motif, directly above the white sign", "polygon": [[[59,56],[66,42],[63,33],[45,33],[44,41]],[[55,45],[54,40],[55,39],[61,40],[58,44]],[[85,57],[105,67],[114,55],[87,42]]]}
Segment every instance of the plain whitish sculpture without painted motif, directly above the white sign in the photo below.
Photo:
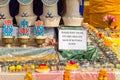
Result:
{"label": "plain whitish sculpture without painted motif, directly above the white sign", "polygon": [[81,0],[66,0],[66,13],[63,16],[65,26],[81,26],[83,21],[79,13]]}

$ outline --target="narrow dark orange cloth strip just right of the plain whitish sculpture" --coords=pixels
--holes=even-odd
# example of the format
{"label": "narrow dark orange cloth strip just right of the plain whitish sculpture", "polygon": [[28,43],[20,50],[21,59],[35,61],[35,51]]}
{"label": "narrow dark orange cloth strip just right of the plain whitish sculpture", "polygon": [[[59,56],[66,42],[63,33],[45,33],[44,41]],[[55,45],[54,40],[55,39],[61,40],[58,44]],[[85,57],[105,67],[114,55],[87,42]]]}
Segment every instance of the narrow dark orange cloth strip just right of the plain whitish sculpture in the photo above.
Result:
{"label": "narrow dark orange cloth strip just right of the plain whitish sculpture", "polygon": [[83,17],[84,17],[84,22],[85,23],[89,23],[89,8],[90,6],[89,6],[89,1],[85,1],[84,2],[84,13],[83,13]]}

